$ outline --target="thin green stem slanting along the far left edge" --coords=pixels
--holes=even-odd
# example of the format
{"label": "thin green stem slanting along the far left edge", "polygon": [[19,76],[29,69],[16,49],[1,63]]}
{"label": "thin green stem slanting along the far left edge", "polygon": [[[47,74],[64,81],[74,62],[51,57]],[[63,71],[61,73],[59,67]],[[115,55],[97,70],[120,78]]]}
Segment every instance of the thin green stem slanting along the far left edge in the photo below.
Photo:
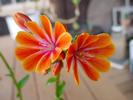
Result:
{"label": "thin green stem slanting along the far left edge", "polygon": [[11,66],[10,66],[10,65],[8,64],[8,62],[6,61],[4,55],[2,54],[1,51],[0,51],[0,57],[1,57],[2,61],[4,62],[4,64],[6,65],[6,68],[8,69],[8,71],[9,71],[9,73],[10,73],[10,76],[11,76],[11,78],[12,78],[12,81],[13,81],[13,83],[14,83],[16,89],[17,89],[18,94],[19,94],[19,99],[20,99],[20,100],[23,100],[22,91],[21,91],[21,89],[20,89],[20,88],[18,87],[18,85],[17,85],[18,82],[17,82],[17,79],[16,79],[16,77],[15,77],[15,74],[14,74],[14,72],[13,72]]}

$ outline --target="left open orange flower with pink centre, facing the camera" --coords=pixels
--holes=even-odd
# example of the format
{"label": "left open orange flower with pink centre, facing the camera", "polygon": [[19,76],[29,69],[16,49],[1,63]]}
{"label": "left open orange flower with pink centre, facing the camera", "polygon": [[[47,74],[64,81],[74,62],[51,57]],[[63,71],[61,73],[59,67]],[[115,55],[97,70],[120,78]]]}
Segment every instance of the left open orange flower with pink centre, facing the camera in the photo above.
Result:
{"label": "left open orange flower with pink centre, facing the camera", "polygon": [[15,53],[25,70],[45,73],[60,53],[69,48],[72,38],[60,22],[55,23],[54,31],[46,16],[40,16],[40,22],[41,27],[33,21],[25,23],[32,34],[18,32],[16,41],[20,46]]}

